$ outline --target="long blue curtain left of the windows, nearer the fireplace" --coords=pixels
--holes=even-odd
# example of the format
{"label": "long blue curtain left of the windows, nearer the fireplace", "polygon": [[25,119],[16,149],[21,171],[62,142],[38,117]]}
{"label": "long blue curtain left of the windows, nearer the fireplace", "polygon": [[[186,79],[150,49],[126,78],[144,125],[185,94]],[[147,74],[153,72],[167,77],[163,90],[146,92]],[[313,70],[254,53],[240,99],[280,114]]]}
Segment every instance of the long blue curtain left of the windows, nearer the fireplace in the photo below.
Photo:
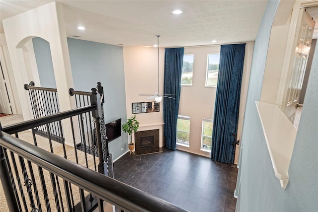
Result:
{"label": "long blue curtain left of the windows, nearer the fireplace", "polygon": [[175,93],[175,99],[163,98],[163,138],[168,149],[175,150],[181,90],[184,48],[165,49],[163,94]]}

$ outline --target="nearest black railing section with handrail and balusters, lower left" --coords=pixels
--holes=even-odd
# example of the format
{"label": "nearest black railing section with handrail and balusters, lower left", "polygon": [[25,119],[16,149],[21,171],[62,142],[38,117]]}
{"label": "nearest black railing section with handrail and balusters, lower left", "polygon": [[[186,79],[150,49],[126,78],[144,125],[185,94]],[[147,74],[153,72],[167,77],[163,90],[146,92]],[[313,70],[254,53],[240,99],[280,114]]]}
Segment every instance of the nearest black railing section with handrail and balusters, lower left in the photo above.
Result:
{"label": "nearest black railing section with handrail and balusters, lower left", "polygon": [[[10,185],[5,190],[6,200],[11,212],[16,211],[69,211],[75,212],[76,193],[91,193],[98,198],[97,208],[104,212],[105,202],[122,211],[130,212],[184,212],[184,210],[157,197],[114,180],[108,176],[87,169],[64,157],[45,151],[28,142],[10,136],[1,131],[1,181]],[[12,164],[8,155],[19,158],[20,165]],[[8,161],[10,164],[8,164]],[[21,203],[21,194],[12,186],[7,166],[22,169],[27,182],[22,189],[25,203]],[[21,175],[21,173],[19,173]],[[2,177],[2,175],[4,175]],[[38,180],[36,176],[40,176]],[[49,179],[46,180],[45,179]],[[59,189],[56,182],[60,180]],[[37,181],[38,180],[38,181]],[[15,181],[14,181],[15,182]],[[21,184],[21,183],[20,183]],[[14,184],[13,184],[14,185]],[[22,185],[18,185],[20,187]],[[62,195],[59,195],[59,192]],[[71,192],[73,192],[71,194]],[[42,195],[44,194],[44,195]],[[81,198],[81,195],[78,195]],[[82,199],[80,199],[82,203]],[[105,201],[105,202],[104,202]],[[82,205],[84,205],[82,203]],[[97,209],[96,209],[97,210]],[[86,212],[83,206],[82,212]],[[91,211],[91,210],[90,210]]]}

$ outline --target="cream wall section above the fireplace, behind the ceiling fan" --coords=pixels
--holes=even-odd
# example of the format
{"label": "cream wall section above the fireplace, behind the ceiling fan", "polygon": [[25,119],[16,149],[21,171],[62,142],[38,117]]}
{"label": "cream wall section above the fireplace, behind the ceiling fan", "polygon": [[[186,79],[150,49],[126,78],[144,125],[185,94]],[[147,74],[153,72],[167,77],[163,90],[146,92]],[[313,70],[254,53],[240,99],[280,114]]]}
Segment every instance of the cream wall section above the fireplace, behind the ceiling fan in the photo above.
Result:
{"label": "cream wall section above the fireplace, behind the ceiling fan", "polygon": [[[133,116],[133,102],[150,102],[147,96],[158,90],[158,50],[154,47],[124,47],[127,117]],[[159,93],[163,92],[164,49],[159,49]],[[155,101],[155,100],[153,100]],[[160,111],[135,114],[140,125],[162,123],[162,102]]]}

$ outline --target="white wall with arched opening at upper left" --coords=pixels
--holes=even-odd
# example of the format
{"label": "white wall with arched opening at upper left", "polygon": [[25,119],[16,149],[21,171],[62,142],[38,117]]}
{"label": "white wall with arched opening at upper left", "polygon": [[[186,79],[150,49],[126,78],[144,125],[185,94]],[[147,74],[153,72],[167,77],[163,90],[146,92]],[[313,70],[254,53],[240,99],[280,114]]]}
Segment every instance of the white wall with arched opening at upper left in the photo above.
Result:
{"label": "white wall with arched opening at upper left", "polygon": [[[23,107],[24,120],[31,119],[30,104],[27,91],[23,84],[28,80],[28,68],[32,63],[25,63],[25,60],[34,56],[25,57],[26,42],[33,37],[41,37],[50,43],[52,62],[55,78],[58,78],[57,89],[61,111],[76,107],[75,98],[70,97],[68,90],[73,86],[70,57],[67,45],[66,28],[64,21],[63,5],[51,2],[40,7],[31,9],[24,13],[12,16],[2,21],[6,36],[6,42],[10,54],[12,71],[16,82],[19,102]],[[36,24],[35,24],[36,23]],[[49,24],[48,24],[49,23]],[[26,44],[26,45],[25,45]],[[34,54],[34,53],[33,53]],[[70,121],[63,120],[64,136],[66,143],[72,143]]]}

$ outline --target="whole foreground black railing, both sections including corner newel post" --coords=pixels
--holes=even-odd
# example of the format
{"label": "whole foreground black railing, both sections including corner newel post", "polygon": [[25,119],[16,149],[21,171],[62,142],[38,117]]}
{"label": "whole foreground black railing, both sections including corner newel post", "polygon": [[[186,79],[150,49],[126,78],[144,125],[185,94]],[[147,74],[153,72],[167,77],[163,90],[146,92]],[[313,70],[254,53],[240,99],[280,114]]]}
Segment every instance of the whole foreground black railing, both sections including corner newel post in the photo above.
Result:
{"label": "whole foreground black railing, both sections including corner newel post", "polygon": [[[117,206],[123,211],[183,211],[140,190],[120,183],[107,176],[107,163],[98,157],[98,172],[85,165],[79,165],[82,156],[77,155],[73,119],[80,114],[91,112],[96,129],[97,155],[103,155],[101,135],[101,96],[96,88],[90,94],[90,106],[85,106],[45,117],[24,121],[1,128],[0,174],[9,210],[15,211],[92,211],[98,207],[103,212],[104,202]],[[53,145],[50,136],[44,138],[35,134],[34,128],[53,122],[69,120],[75,155],[72,148],[63,143]],[[65,121],[64,121],[65,123]],[[0,126],[1,127],[1,126]],[[31,130],[31,132],[27,131]],[[15,137],[9,134],[15,135]],[[63,138],[63,134],[61,135]],[[33,141],[28,141],[29,137]],[[27,140],[22,141],[21,139]],[[48,143],[50,145],[41,146]],[[64,139],[65,140],[65,139]],[[31,143],[29,143],[31,142]],[[55,142],[58,143],[58,142]],[[60,148],[61,156],[57,155]],[[68,149],[66,149],[68,148]],[[68,153],[68,154],[66,154]],[[106,152],[107,154],[107,152]],[[71,160],[72,159],[72,160]],[[87,161],[87,160],[86,160]],[[19,164],[19,165],[18,165]],[[89,197],[89,202],[86,198]]]}

